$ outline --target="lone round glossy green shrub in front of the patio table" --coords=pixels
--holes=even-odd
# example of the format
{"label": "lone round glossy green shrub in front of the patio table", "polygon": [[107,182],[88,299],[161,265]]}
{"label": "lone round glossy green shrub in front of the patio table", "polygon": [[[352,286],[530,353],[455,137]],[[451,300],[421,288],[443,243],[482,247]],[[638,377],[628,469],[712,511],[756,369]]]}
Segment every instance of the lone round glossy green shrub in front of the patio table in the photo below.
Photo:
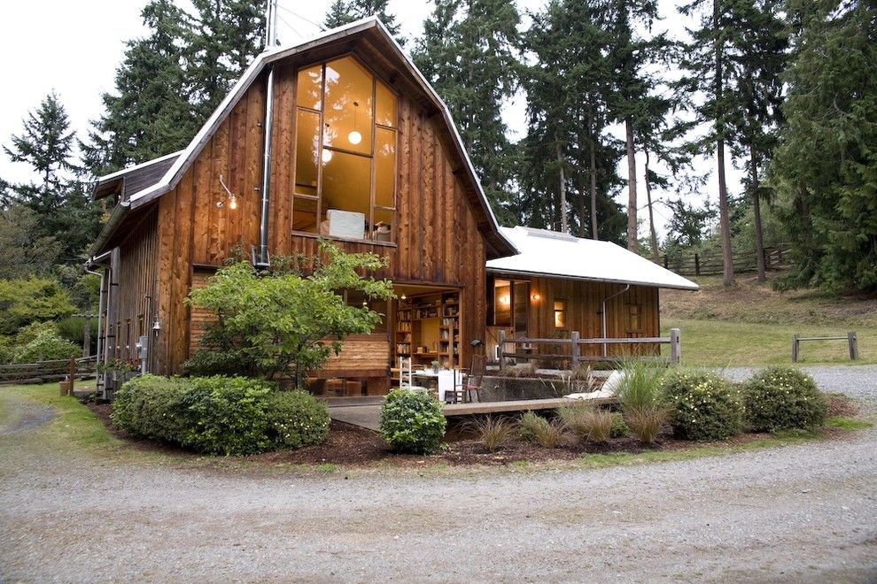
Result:
{"label": "lone round glossy green shrub in front of the patio table", "polygon": [[407,389],[393,389],[384,398],[381,436],[395,452],[430,454],[439,450],[446,428],[438,400]]}

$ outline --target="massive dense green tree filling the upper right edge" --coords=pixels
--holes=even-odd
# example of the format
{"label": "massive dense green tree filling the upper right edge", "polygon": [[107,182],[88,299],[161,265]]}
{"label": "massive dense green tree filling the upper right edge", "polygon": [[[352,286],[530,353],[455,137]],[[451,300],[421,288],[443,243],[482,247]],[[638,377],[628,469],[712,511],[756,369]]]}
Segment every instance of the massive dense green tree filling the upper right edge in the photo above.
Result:
{"label": "massive dense green tree filling the upper right edge", "polygon": [[799,32],[771,164],[796,234],[782,286],[877,290],[877,6],[789,0]]}

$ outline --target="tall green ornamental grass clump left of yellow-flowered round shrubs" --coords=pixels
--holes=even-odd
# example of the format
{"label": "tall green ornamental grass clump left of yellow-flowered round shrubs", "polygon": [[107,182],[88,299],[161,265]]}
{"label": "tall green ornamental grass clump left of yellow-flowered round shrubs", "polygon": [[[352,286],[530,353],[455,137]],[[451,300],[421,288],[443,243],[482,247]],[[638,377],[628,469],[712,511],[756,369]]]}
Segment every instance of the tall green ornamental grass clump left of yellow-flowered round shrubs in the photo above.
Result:
{"label": "tall green ornamental grass clump left of yellow-flowered round shrubs", "polygon": [[628,428],[643,444],[655,442],[667,421],[661,390],[665,374],[664,368],[645,361],[632,359],[622,365],[618,400]]}

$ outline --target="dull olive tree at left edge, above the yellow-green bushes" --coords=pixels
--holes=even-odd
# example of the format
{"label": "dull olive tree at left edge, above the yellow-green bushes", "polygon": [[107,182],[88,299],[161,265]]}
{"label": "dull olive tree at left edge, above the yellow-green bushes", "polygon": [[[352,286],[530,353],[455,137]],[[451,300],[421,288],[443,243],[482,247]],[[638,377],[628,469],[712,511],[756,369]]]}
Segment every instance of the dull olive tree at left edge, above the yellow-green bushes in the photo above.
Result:
{"label": "dull olive tree at left edge, above the yellow-green bushes", "polygon": [[34,211],[17,202],[0,210],[0,279],[45,276],[60,253],[54,237],[40,234]]}

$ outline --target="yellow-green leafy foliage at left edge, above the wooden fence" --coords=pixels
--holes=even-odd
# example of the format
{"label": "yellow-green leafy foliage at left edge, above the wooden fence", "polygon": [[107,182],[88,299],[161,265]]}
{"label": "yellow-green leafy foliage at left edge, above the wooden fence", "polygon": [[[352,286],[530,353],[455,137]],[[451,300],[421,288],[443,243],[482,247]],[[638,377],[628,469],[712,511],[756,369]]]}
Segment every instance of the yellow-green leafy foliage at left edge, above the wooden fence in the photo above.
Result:
{"label": "yellow-green leafy foliage at left edge, above the wooden fence", "polygon": [[75,311],[57,280],[35,276],[0,280],[0,334],[12,334],[32,322],[60,319]]}

